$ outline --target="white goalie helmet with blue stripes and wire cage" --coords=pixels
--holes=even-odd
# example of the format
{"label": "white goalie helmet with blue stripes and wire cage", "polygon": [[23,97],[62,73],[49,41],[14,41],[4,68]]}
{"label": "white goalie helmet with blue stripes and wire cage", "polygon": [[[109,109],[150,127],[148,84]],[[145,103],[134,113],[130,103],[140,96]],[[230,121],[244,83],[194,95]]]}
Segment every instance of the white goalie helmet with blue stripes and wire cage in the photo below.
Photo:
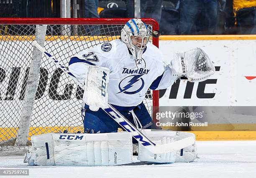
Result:
{"label": "white goalie helmet with blue stripes and wire cage", "polygon": [[151,29],[139,18],[129,20],[121,31],[121,41],[130,49],[136,60],[141,60],[151,36]]}

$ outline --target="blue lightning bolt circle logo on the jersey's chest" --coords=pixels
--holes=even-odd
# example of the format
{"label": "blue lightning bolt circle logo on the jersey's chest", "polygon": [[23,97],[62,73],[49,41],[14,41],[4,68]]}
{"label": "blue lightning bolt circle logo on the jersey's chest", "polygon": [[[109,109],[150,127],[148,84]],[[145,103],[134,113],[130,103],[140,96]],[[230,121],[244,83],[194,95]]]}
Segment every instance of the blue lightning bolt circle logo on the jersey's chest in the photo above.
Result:
{"label": "blue lightning bolt circle logo on the jersey's chest", "polygon": [[[121,85],[121,83],[123,82],[123,80],[125,80],[125,79],[127,79],[128,77],[131,77],[131,76],[128,76],[128,77],[125,77],[122,81],[120,81],[120,83],[119,83],[119,90],[120,90],[120,92],[118,92],[118,93],[125,93],[125,94],[135,94],[135,93],[138,93],[138,92],[140,92],[141,91],[141,89],[143,89],[143,87],[144,87],[144,80],[142,79],[142,78],[140,78],[141,76],[143,76],[144,74],[141,74],[141,75],[131,75],[131,76],[133,76],[133,78],[130,80],[130,81],[128,81],[128,84],[127,85],[125,85],[123,88],[120,86]],[[128,90],[128,89],[130,89],[132,86],[133,86],[133,84],[135,84],[137,81],[142,81],[142,85],[141,85],[141,87],[139,88],[139,89],[137,89],[136,91],[134,91],[134,92],[126,92],[126,90]],[[117,94],[118,94],[117,93]]]}

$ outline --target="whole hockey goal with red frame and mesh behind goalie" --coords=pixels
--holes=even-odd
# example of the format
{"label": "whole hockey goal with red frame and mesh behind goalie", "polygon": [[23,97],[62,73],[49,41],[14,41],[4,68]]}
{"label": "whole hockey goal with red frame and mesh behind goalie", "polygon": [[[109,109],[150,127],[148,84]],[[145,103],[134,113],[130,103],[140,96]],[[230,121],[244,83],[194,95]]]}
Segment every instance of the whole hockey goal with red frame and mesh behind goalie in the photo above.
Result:
{"label": "whole hockey goal with red frame and mesh behind goalie", "polygon": [[[30,137],[47,132],[83,132],[83,90],[31,45],[41,42],[61,64],[84,49],[118,39],[128,19],[0,18],[0,155],[22,154]],[[156,21],[143,20],[153,33]],[[158,46],[158,37],[151,43]],[[148,112],[158,106],[148,90]]]}

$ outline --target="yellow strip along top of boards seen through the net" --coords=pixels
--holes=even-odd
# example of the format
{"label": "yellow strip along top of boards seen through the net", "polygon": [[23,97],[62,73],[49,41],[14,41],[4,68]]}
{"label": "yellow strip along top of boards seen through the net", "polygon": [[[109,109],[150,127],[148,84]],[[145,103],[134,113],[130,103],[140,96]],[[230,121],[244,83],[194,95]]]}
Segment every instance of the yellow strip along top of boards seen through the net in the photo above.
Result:
{"label": "yellow strip along top of boards seen through the net", "polygon": [[[119,39],[120,36],[45,36],[45,41],[70,40],[70,41],[111,41]],[[2,41],[33,41],[35,36],[0,36]]]}

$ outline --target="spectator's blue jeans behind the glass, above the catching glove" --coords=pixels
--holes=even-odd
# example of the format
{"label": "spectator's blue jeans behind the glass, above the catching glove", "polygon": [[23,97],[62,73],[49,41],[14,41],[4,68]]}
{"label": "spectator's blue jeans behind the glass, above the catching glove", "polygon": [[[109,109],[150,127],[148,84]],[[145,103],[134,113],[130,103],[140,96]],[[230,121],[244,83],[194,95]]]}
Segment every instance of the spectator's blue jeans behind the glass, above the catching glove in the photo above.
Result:
{"label": "spectator's blue jeans behind the glass, above the catching glove", "polygon": [[180,0],[179,34],[214,34],[218,0]]}

